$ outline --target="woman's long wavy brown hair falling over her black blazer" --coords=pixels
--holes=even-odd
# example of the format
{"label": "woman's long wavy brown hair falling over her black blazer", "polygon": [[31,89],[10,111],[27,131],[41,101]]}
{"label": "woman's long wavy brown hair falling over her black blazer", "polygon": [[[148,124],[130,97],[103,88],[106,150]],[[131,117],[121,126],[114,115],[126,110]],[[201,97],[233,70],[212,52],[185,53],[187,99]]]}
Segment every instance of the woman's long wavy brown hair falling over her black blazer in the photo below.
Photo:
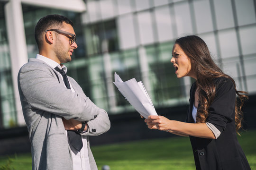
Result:
{"label": "woman's long wavy brown hair falling over her black blazer", "polygon": [[196,122],[206,122],[209,114],[208,109],[216,94],[216,84],[214,83],[214,79],[218,77],[226,77],[232,80],[236,94],[238,95],[238,98],[236,98],[235,108],[235,123],[236,131],[238,133],[238,129],[241,127],[243,119],[242,107],[244,101],[248,98],[247,92],[237,90],[236,83],[233,78],[224,74],[223,71],[214,63],[206,43],[200,37],[196,35],[184,36],[177,39],[175,43],[179,44],[184,53],[188,56],[192,64],[192,69],[196,73],[196,85],[201,105],[201,107],[198,108]]}

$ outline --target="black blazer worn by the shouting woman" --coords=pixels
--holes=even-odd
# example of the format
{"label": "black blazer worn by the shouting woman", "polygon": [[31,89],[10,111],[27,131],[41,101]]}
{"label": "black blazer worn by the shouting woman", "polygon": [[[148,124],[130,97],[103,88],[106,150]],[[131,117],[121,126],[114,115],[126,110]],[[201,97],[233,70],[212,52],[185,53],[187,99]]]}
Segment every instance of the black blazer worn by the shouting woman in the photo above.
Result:
{"label": "black blazer worn by the shouting woman", "polygon": [[[229,78],[217,78],[215,99],[206,122],[221,132],[217,139],[190,136],[197,170],[250,170],[247,158],[238,143],[235,126],[236,91]],[[186,122],[194,123],[192,108],[196,83],[190,90],[190,107]],[[200,107],[200,103],[198,105]]]}

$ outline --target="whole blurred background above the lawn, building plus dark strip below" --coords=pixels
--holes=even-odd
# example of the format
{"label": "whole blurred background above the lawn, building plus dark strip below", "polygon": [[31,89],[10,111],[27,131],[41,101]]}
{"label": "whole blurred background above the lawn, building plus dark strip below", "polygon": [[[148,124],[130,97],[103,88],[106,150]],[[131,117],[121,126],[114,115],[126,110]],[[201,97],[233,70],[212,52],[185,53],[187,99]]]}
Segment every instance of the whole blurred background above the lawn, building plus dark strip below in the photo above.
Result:
{"label": "whole blurred background above the lawn, building plus dark strip below", "polygon": [[17,75],[35,58],[34,27],[49,14],[73,21],[78,48],[67,74],[110,117],[110,131],[91,145],[172,136],[147,129],[112,82],[114,72],[135,77],[158,115],[184,121],[193,80],[176,78],[170,59],[175,39],[188,34],[249,93],[244,128],[256,128],[256,0],[0,0],[0,155],[30,152]]}

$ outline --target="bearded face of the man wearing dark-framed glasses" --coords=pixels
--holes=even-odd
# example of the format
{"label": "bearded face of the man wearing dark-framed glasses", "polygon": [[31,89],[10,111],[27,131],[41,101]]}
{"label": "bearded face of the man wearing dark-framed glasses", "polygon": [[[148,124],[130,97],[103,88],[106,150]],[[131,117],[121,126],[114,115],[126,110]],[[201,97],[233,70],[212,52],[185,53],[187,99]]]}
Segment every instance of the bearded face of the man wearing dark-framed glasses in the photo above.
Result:
{"label": "bearded face of the man wearing dark-framed glasses", "polygon": [[[73,27],[66,23],[63,23],[63,28],[61,28],[61,30],[69,32],[71,34],[75,34]],[[70,45],[71,35],[56,33],[56,37],[57,39],[53,50],[57,59],[60,61],[60,63],[66,63],[71,61],[73,50],[77,48],[76,42],[73,42]]]}

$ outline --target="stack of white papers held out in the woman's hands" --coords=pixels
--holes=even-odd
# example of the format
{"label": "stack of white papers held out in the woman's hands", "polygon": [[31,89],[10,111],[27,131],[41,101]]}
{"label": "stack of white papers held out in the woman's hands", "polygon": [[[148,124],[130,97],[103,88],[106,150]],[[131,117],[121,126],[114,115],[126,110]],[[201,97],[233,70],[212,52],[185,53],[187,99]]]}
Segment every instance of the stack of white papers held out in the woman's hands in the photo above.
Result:
{"label": "stack of white papers held out in the woman's hands", "polygon": [[157,115],[154,105],[143,83],[137,82],[135,78],[123,82],[117,73],[115,73],[115,82],[113,82],[120,93],[144,118],[149,115]]}

